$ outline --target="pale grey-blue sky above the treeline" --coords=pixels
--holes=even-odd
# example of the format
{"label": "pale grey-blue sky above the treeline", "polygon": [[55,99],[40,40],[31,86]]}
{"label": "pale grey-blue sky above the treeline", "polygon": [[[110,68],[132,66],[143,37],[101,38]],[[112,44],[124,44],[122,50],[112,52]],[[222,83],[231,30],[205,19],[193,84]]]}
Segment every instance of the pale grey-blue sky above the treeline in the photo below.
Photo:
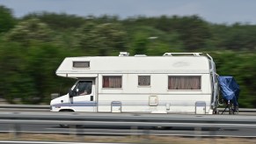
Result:
{"label": "pale grey-blue sky above the treeline", "polygon": [[198,15],[210,23],[256,25],[256,0],[0,0],[0,5],[17,18],[41,11],[120,18]]}

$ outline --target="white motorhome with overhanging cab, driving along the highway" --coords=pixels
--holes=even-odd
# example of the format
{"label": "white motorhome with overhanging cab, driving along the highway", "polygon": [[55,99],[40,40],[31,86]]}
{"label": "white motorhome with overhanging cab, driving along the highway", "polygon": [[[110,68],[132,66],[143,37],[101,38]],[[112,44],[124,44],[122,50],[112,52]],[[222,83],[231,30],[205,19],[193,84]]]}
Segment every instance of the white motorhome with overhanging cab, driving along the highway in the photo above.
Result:
{"label": "white motorhome with overhanging cab, driving along the highway", "polygon": [[209,54],[165,53],[67,57],[57,76],[76,78],[51,112],[214,114],[216,66]]}

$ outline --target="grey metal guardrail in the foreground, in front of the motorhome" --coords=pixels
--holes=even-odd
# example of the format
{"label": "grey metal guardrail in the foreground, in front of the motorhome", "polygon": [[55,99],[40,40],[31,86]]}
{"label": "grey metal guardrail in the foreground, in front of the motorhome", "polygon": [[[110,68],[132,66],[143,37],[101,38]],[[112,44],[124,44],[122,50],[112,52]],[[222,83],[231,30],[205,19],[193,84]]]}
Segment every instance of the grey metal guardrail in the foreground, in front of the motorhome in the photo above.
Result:
{"label": "grey metal guardrail in the foreground, in front of the motorhome", "polygon": [[[89,112],[0,112],[0,123],[9,124],[12,128],[11,133],[18,133],[18,127],[26,124],[69,125],[72,129],[76,129],[77,125],[108,127],[129,126],[133,130],[139,126],[145,128],[175,126],[191,127],[194,128],[195,131],[200,131],[201,128],[256,128],[256,116]],[[15,127],[17,127],[17,129],[15,129]],[[70,130],[69,134],[77,134],[77,132],[77,130]],[[195,133],[194,136],[198,137],[201,135],[200,133]]]}

